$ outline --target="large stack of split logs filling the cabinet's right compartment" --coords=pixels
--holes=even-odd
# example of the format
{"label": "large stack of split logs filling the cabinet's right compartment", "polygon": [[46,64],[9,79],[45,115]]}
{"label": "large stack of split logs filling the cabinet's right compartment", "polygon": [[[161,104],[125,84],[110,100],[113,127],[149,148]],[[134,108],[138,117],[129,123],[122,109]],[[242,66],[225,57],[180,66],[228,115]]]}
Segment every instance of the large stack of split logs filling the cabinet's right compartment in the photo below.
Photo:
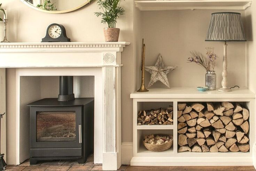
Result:
{"label": "large stack of split logs filling the cabinet's right compartment", "polygon": [[178,103],[178,152],[247,152],[249,111],[239,103]]}

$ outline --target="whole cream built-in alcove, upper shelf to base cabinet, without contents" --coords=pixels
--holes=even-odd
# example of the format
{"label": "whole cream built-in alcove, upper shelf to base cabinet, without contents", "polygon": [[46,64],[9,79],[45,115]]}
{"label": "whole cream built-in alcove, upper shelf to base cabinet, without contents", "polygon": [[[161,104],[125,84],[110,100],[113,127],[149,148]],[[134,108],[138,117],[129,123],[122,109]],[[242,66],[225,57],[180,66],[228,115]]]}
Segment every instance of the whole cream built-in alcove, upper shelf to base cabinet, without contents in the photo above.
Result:
{"label": "whole cream built-in alcove, upper shelf to base cabinet, without contents", "polygon": [[[137,89],[141,83],[140,56],[142,38],[144,38],[144,43],[146,44],[145,66],[155,65],[157,57],[161,53],[165,66],[177,66],[178,68],[167,75],[171,89],[166,88],[158,81],[150,87],[149,92],[133,92],[130,95],[133,99],[133,157],[131,165],[253,165],[252,147],[254,142],[252,141],[255,139],[255,93],[251,90],[255,89],[255,78],[250,73],[255,72],[255,67],[253,66],[255,63],[255,52],[251,36],[254,33],[254,31],[251,31],[253,25],[251,23],[251,16],[254,17],[255,15],[253,13],[255,7],[252,8],[254,5],[252,1],[134,0],[134,2],[133,28],[136,38],[134,47],[137,52]],[[187,63],[189,51],[196,50],[205,54],[205,47],[215,48],[214,52],[219,56],[215,67],[217,87],[221,87],[223,42],[205,42],[204,40],[211,13],[223,11],[241,13],[246,34],[248,39],[250,39],[247,42],[228,42],[228,84],[230,87],[239,85],[241,88],[233,89],[230,93],[221,93],[217,90],[199,92],[196,90],[196,87],[205,85],[205,71],[196,64]],[[150,74],[145,72],[146,86],[149,79]],[[141,110],[141,104],[144,102],[157,104],[172,102],[173,125],[137,125],[137,115],[139,110]],[[206,102],[232,102],[234,107],[236,102],[238,102],[248,109],[249,118],[247,121],[249,123],[249,132],[245,135],[251,140],[248,142],[250,146],[249,151],[246,153],[241,151],[236,153],[230,151],[227,153],[219,151],[215,153],[178,152],[178,103],[186,103],[191,106],[192,103],[203,103],[205,105]],[[236,131],[242,132],[241,127],[237,127]],[[163,130],[172,130],[173,152],[139,153],[138,149],[140,149],[142,141],[141,132],[146,129],[158,131],[159,133]],[[236,138],[236,135],[234,137]]]}

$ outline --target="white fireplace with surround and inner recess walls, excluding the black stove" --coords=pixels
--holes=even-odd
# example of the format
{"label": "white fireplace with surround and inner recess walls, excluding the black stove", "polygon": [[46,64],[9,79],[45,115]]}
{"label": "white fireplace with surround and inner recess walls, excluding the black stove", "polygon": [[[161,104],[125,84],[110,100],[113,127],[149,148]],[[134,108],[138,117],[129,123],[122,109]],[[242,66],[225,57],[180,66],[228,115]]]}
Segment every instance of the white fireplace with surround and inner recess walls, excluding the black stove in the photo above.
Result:
{"label": "white fireplace with surround and inner recess walls, excluding the black stove", "polygon": [[[9,115],[6,122],[8,142],[6,143],[4,138],[1,139],[1,147],[3,149],[6,147],[8,151],[7,163],[17,165],[30,156],[28,124],[30,110],[26,104],[43,98],[57,98],[55,86],[53,85],[53,90],[51,89],[53,82],[44,84],[44,77],[90,76],[93,77],[93,85],[84,82],[88,79],[82,79],[80,82],[80,79],[75,78],[74,90],[77,92],[76,97],[94,97],[94,118],[96,118],[94,119],[94,163],[102,163],[103,170],[117,170],[121,166],[122,155],[121,68],[123,64],[121,58],[123,50],[129,44],[129,42],[1,44],[0,67],[10,68],[6,72],[7,84],[9,84],[7,91]],[[41,62],[38,62],[38,59],[41,59]],[[42,79],[38,81],[37,76]],[[95,91],[84,91],[88,86],[93,87]],[[41,89],[41,92],[38,89]],[[1,152],[6,153],[5,150]]]}

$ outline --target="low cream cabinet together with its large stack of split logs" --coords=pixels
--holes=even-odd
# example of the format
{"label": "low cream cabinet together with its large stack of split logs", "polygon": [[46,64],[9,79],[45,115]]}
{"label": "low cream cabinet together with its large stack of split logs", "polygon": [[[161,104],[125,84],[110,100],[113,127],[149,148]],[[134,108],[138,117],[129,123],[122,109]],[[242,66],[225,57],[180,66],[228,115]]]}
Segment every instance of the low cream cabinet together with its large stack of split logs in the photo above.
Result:
{"label": "low cream cabinet together with its large stack of split logs", "polygon": [[[222,93],[186,87],[153,88],[145,93],[134,92],[130,97],[133,99],[131,165],[253,165],[255,94],[250,90],[240,88]],[[145,116],[138,121],[142,113],[150,120],[145,120]],[[167,114],[172,114],[172,118],[168,116],[173,125],[162,124],[168,122]],[[151,116],[156,116],[157,121]],[[173,145],[166,151],[149,151],[142,143],[143,136],[148,134],[172,135]]]}

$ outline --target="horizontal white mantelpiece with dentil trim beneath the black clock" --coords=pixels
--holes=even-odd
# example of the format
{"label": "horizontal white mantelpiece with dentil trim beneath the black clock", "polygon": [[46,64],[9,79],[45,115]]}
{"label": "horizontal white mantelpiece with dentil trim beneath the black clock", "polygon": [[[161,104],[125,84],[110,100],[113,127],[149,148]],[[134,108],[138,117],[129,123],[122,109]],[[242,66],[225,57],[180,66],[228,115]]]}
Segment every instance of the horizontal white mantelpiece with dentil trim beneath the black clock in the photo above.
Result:
{"label": "horizontal white mantelpiece with dentil trim beneath the black clock", "polygon": [[[119,65],[129,42],[1,43],[0,67],[103,67]],[[26,55],[24,55],[24,53]],[[52,53],[49,55],[49,53]],[[70,54],[71,53],[71,54]],[[81,55],[86,53],[86,55]],[[17,55],[19,54],[19,55]],[[22,55],[22,57],[21,57]],[[120,60],[120,61],[119,61]]]}

